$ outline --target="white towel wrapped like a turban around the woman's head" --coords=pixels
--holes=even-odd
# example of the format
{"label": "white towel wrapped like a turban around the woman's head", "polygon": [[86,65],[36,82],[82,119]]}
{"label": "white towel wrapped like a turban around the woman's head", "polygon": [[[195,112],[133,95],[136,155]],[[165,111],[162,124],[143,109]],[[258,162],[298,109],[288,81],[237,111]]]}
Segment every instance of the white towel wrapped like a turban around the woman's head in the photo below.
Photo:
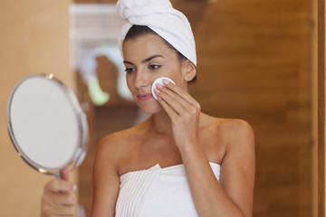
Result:
{"label": "white towel wrapped like a turban around the woman's head", "polygon": [[146,25],[197,65],[194,34],[185,14],[169,0],[119,0],[118,14],[127,21],[120,33],[120,48],[130,27]]}

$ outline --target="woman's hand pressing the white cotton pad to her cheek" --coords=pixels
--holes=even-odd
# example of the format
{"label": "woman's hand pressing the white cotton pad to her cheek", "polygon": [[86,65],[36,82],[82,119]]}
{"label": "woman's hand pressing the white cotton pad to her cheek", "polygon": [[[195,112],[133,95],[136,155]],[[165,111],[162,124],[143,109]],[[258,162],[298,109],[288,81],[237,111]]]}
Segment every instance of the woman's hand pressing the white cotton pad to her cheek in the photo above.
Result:
{"label": "woman's hand pressing the white cotton pad to her cheek", "polygon": [[198,142],[200,105],[187,91],[168,80],[165,86],[157,85],[158,102],[168,113],[172,123],[173,137],[178,148],[193,146]]}

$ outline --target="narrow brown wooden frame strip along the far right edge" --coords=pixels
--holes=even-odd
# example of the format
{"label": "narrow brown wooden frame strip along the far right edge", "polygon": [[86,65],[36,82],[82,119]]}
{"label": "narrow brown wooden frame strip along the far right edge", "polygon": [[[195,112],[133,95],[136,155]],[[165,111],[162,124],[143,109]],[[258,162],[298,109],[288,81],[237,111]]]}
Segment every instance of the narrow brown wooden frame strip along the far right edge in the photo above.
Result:
{"label": "narrow brown wooden frame strip along the far right edge", "polygon": [[318,216],[325,216],[325,3],[318,0]]}

